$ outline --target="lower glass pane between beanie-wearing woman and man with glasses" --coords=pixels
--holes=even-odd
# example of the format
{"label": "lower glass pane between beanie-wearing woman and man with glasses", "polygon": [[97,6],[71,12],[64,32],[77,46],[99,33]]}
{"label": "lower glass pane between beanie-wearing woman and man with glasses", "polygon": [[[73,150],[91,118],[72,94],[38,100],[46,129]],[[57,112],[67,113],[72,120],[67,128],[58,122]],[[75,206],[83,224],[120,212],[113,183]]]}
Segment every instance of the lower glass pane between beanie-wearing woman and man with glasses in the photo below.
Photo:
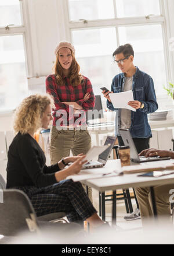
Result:
{"label": "lower glass pane between beanie-wearing woman and man with glasses", "polygon": [[111,87],[115,74],[112,54],[117,48],[114,28],[72,31],[75,56],[82,75],[92,82],[94,93],[101,94],[100,87]]}

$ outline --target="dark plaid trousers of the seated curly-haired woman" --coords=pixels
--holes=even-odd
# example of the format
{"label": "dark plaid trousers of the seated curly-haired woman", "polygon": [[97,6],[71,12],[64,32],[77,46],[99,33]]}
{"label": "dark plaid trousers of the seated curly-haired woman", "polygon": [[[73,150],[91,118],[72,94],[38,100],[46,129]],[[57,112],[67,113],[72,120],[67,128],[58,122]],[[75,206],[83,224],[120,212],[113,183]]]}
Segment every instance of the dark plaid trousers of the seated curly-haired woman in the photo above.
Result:
{"label": "dark plaid trousers of the seated curly-haired woman", "polygon": [[70,222],[85,220],[97,213],[81,183],[63,180],[48,187],[13,187],[25,192],[31,199],[37,216],[66,212]]}

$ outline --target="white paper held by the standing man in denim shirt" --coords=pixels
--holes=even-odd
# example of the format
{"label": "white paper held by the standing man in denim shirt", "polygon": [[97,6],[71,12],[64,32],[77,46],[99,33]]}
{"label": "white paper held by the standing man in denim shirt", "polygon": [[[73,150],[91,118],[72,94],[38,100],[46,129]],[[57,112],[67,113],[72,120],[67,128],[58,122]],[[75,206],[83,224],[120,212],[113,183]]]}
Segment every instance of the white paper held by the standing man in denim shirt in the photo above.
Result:
{"label": "white paper held by the standing man in denim shirt", "polygon": [[110,93],[109,96],[114,108],[127,108],[129,110],[136,111],[135,108],[128,105],[128,102],[133,100],[132,90],[122,93]]}

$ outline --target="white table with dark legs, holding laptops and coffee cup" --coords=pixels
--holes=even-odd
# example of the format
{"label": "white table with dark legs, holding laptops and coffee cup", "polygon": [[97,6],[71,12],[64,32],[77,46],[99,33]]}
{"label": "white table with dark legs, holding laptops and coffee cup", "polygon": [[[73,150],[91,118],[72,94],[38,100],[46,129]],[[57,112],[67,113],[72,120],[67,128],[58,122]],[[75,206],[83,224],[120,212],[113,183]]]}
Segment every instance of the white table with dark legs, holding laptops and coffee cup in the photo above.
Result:
{"label": "white table with dark legs, holding laptops and coffee cup", "polygon": [[[170,160],[173,162],[173,160]],[[161,166],[163,166],[165,161],[161,161]],[[153,162],[155,164],[155,162]],[[134,164],[132,164],[134,165]],[[111,171],[121,167],[120,160],[108,160],[106,166],[103,168],[97,169],[90,169],[89,174],[96,174],[102,171],[105,173],[110,173]],[[86,171],[86,170],[85,170]],[[138,177],[140,173],[137,174],[124,174],[123,176],[113,176],[107,177],[104,176],[102,178],[95,178],[82,181],[87,186],[93,187],[99,192],[105,192],[108,190],[113,191],[113,223],[116,219],[116,190],[117,189],[128,189],[130,187],[150,187],[151,188],[151,197],[153,201],[153,211],[154,215],[157,216],[157,209],[155,206],[155,198],[154,198],[154,191],[153,187],[155,185],[165,185],[165,184],[173,184],[174,188],[174,174],[170,174],[167,176],[162,176],[158,178],[154,177]],[[82,171],[81,171],[82,175]]]}

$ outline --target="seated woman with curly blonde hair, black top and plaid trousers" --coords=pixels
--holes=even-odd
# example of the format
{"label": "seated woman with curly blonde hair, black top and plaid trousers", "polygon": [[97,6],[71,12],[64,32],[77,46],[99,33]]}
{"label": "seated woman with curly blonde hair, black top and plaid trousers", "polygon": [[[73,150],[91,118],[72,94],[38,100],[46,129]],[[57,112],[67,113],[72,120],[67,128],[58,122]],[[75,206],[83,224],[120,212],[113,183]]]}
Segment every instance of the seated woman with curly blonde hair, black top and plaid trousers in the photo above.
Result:
{"label": "seated woman with curly blonde hair, black top and plaid trousers", "polygon": [[[8,152],[6,188],[17,188],[31,199],[37,216],[66,212],[70,222],[88,220],[92,227],[103,225],[81,183],[66,179],[78,173],[85,156],[65,157],[46,166],[45,155],[34,132],[48,128],[52,117],[53,99],[50,95],[31,95],[16,110],[14,137]],[[73,162],[66,169],[68,163]]]}

